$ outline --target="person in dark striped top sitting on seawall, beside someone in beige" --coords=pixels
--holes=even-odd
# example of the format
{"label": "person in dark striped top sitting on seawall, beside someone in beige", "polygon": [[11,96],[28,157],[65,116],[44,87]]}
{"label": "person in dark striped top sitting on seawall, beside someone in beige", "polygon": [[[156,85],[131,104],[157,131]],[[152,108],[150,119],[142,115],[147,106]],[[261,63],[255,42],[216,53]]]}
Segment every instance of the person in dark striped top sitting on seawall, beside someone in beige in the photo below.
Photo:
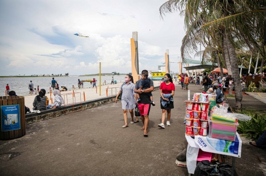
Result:
{"label": "person in dark striped top sitting on seawall, beside someone in beige", "polygon": [[41,89],[39,91],[39,95],[37,95],[33,101],[33,110],[41,111],[46,109],[46,106],[49,103],[49,99],[48,97],[45,96],[45,94],[46,94],[45,89]]}

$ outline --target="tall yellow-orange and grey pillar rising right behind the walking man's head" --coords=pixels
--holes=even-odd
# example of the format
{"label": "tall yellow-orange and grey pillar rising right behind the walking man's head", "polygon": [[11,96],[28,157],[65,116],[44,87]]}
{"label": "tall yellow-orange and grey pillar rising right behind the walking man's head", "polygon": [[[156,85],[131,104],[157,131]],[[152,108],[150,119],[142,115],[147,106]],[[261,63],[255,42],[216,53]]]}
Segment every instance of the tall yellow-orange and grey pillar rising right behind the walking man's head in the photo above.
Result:
{"label": "tall yellow-orange and grey pillar rising right behind the walking man's head", "polygon": [[138,70],[138,44],[137,44],[137,32],[133,32],[131,38],[131,64],[132,64],[132,76],[134,82],[140,79]]}

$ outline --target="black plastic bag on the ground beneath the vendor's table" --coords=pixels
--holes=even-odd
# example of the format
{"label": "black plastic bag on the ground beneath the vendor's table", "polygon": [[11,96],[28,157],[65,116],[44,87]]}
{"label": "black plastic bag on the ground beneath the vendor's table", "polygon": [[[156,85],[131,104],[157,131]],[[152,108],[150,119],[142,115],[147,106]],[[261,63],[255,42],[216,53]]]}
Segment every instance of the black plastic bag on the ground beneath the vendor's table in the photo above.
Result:
{"label": "black plastic bag on the ground beneath the vendor's table", "polygon": [[238,176],[235,170],[227,163],[214,163],[208,160],[201,161],[197,164],[194,176]]}

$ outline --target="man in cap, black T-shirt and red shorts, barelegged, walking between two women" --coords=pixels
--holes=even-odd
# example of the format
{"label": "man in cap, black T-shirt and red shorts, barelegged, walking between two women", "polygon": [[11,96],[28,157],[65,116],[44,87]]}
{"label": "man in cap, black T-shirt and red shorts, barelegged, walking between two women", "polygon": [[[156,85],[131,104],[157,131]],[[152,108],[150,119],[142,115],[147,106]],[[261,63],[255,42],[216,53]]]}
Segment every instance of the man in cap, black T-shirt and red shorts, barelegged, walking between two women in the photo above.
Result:
{"label": "man in cap, black T-shirt and red shorts, barelegged, walking between two women", "polygon": [[[147,70],[142,70],[141,74],[148,74]],[[148,94],[154,90],[153,81],[150,79],[150,88],[142,90],[140,89],[141,86],[141,79],[136,82],[135,86],[135,93],[139,94],[140,101],[138,101],[138,108],[141,116],[141,121],[143,123],[143,127],[141,127],[141,130],[144,130],[144,136],[148,137],[147,129],[149,126],[149,112],[151,108],[151,99]]]}

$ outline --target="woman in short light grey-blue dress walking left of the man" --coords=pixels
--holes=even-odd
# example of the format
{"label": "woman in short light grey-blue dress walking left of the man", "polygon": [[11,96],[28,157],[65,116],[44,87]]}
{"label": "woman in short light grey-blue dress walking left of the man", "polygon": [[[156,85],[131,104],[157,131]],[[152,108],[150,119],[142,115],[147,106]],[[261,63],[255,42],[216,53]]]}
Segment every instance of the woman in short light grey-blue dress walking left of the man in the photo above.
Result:
{"label": "woman in short light grey-blue dress walking left of the man", "polygon": [[124,120],[125,120],[125,125],[122,126],[122,128],[128,127],[128,109],[130,111],[131,115],[131,124],[134,124],[133,122],[133,109],[135,108],[135,100],[136,98],[136,93],[134,93],[135,89],[135,84],[133,81],[133,76],[132,75],[126,75],[125,76],[125,82],[121,85],[120,91],[118,92],[115,102],[117,103],[117,98],[119,94],[122,92],[122,97],[121,97],[121,103],[122,103],[122,109],[123,109],[123,114],[124,114]]}

